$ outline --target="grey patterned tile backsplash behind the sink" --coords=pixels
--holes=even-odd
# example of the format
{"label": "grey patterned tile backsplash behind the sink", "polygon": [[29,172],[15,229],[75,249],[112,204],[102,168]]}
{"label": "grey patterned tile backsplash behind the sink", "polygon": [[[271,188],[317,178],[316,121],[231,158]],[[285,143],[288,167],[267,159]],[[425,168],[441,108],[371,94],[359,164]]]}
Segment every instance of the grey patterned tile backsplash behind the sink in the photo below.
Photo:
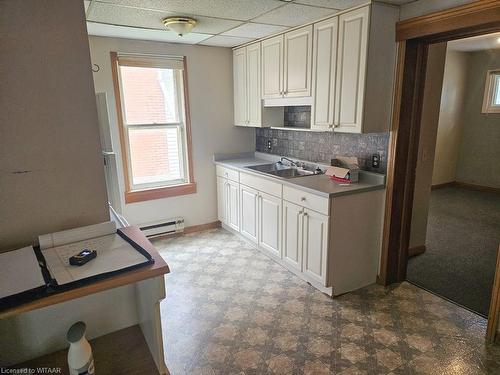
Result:
{"label": "grey patterned tile backsplash behind the sink", "polygon": [[[287,114],[285,113],[285,121]],[[310,116],[310,112],[309,112]],[[330,164],[335,156],[357,156],[365,170],[386,173],[389,133],[349,134],[257,128],[255,150],[312,162]],[[271,149],[268,149],[268,142]],[[372,154],[380,155],[380,167],[372,168]]]}

